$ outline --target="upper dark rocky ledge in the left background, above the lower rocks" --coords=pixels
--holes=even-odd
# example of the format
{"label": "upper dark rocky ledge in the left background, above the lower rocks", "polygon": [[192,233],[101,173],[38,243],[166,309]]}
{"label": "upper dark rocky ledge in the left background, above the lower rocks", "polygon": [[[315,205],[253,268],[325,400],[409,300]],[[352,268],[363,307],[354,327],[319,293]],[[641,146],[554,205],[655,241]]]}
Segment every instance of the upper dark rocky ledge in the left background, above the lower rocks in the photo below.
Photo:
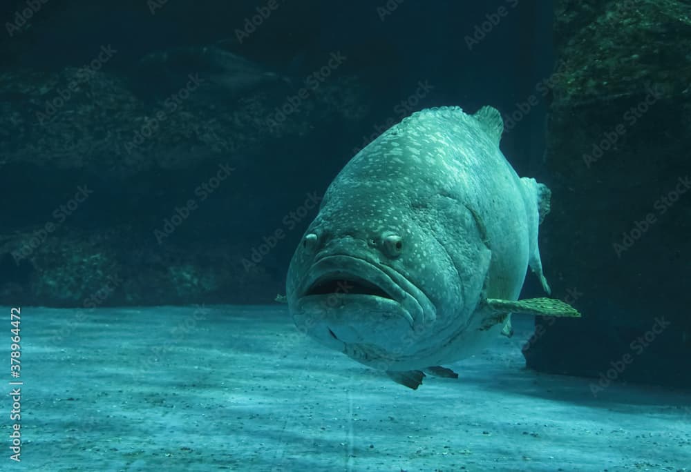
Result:
{"label": "upper dark rocky ledge in the left background, above the lower rocks", "polygon": [[[126,178],[151,169],[195,168],[240,150],[261,153],[267,138],[303,135],[313,121],[334,119],[339,95],[315,90],[290,119],[272,119],[285,93],[257,91],[223,107],[203,95],[205,79],[189,72],[176,92],[153,103],[104,72],[65,68],[0,73],[3,164],[59,168]],[[198,93],[198,95],[196,95]],[[348,110],[348,104],[345,110]]]}

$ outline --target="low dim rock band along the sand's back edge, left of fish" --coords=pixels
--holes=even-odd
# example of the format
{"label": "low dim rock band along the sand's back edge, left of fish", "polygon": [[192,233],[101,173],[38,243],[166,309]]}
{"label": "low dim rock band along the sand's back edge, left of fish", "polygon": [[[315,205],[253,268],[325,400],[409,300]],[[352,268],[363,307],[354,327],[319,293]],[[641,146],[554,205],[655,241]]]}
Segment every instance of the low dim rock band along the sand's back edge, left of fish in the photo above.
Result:
{"label": "low dim rock band along the sand's back edge, left of fish", "polygon": [[60,228],[26,249],[36,234],[36,228],[26,228],[0,237],[0,297],[15,304],[88,309],[256,299],[268,303],[281,286],[261,266],[245,271],[245,249],[229,244],[159,246],[131,226],[119,226]]}

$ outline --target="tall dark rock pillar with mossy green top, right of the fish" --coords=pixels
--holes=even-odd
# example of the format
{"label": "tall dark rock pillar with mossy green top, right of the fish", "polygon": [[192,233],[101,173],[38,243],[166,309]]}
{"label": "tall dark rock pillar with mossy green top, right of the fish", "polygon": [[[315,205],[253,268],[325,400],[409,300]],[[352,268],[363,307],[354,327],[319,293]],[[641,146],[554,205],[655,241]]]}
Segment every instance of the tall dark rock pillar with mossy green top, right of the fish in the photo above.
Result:
{"label": "tall dark rock pillar with mossy green top, right of the fish", "polygon": [[556,48],[543,262],[583,319],[538,317],[527,365],[691,386],[691,11],[560,0]]}

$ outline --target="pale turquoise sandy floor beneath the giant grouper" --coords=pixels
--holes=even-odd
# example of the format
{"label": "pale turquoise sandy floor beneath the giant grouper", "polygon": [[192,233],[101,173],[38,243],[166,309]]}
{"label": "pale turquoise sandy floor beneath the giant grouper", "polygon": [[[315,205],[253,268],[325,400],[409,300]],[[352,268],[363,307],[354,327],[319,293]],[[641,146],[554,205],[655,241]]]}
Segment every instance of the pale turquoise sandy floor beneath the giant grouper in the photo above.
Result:
{"label": "pale turquoise sandy floor beneath the giant grouper", "polygon": [[691,471],[691,393],[529,371],[531,326],[413,391],[284,306],[22,307],[21,462],[3,395],[0,470]]}

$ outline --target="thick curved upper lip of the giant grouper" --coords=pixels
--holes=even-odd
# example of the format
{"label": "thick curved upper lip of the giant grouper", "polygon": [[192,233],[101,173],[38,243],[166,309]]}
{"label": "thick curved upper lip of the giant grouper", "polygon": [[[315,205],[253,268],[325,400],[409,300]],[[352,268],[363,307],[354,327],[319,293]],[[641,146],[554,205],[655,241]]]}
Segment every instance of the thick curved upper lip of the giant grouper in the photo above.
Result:
{"label": "thick curved upper lip of the giant grouper", "polygon": [[[426,306],[431,306],[431,303],[426,295],[415,288],[404,275],[389,266],[376,264],[368,259],[347,254],[332,254],[317,259],[307,271],[307,275],[303,278],[301,284],[299,284],[300,288],[297,291],[297,298],[328,297],[330,295],[305,294],[320,279],[343,277],[343,275],[349,278],[352,277],[356,281],[360,279],[369,284],[374,284],[381,291],[387,293],[394,302],[401,306],[410,326],[415,327],[425,321],[426,313],[418,298],[422,297],[423,303]],[[343,293],[343,295],[347,296],[348,293]],[[350,296],[377,297],[378,295],[351,294]]]}

